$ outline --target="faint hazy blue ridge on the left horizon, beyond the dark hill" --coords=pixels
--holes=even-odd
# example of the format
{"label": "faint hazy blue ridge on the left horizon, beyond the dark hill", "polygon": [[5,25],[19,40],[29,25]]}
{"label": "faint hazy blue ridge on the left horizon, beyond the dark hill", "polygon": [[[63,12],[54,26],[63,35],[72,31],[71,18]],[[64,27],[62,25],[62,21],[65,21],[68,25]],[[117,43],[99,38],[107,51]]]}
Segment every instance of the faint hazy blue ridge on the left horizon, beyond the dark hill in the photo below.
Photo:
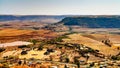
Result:
{"label": "faint hazy blue ridge on the left horizon, beyond the dark hill", "polygon": [[5,21],[34,21],[34,22],[45,22],[54,23],[65,18],[65,16],[57,15],[0,15],[0,22]]}

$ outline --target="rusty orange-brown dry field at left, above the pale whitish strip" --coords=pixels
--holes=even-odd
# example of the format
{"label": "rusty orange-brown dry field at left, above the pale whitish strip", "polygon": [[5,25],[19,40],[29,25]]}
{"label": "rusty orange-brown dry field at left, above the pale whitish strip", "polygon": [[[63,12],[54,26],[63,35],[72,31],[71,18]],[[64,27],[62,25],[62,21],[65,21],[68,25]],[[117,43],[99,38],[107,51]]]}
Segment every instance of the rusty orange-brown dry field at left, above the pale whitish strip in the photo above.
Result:
{"label": "rusty orange-brown dry field at left, above the pale whitish strip", "polygon": [[56,32],[50,30],[20,30],[20,29],[0,29],[1,43],[12,42],[17,40],[28,41],[29,39],[50,39],[58,36]]}

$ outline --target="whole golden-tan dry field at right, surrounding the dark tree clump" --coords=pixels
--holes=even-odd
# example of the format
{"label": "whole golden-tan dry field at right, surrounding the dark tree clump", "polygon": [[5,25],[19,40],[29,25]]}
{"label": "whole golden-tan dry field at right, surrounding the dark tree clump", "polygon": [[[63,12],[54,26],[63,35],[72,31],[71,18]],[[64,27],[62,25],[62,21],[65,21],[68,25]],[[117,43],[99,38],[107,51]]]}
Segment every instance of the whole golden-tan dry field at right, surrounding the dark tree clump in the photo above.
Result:
{"label": "whole golden-tan dry field at right, surrounding the dark tree clump", "polygon": [[105,40],[106,38],[109,38],[113,44],[119,43],[120,35],[108,35],[108,34],[71,34],[68,35],[69,38],[63,39],[64,42],[69,43],[78,43],[78,44],[84,44],[85,46],[91,47],[93,49],[99,50],[101,53],[105,55],[116,55],[118,54],[118,50],[112,46],[109,47],[105,44],[103,44],[101,41]]}

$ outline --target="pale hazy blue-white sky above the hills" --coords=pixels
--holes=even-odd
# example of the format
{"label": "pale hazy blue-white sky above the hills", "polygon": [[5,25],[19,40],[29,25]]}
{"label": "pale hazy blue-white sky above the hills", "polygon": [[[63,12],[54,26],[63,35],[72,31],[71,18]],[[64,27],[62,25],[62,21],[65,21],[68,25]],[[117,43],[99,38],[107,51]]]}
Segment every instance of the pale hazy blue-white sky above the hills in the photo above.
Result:
{"label": "pale hazy blue-white sky above the hills", "polygon": [[0,0],[0,14],[120,15],[120,0]]}

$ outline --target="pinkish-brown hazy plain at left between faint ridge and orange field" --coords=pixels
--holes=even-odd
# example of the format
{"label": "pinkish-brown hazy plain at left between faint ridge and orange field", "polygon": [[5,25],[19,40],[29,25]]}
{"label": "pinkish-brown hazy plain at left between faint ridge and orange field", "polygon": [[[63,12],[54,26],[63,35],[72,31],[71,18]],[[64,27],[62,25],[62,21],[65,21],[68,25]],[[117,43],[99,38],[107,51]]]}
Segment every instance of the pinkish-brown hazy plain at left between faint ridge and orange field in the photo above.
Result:
{"label": "pinkish-brown hazy plain at left between faint ridge and orange field", "polygon": [[17,28],[17,29],[40,29],[46,26],[46,23],[31,21],[7,21],[0,22],[0,28]]}

